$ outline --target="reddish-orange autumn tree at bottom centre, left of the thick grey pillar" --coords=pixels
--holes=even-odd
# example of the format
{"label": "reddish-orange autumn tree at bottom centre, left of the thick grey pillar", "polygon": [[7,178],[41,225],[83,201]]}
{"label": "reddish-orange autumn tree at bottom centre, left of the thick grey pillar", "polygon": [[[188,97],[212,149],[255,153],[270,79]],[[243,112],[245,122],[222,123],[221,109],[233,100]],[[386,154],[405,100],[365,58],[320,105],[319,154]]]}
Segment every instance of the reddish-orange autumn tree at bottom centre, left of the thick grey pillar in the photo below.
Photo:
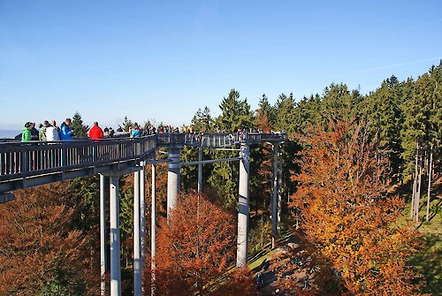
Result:
{"label": "reddish-orange autumn tree at bottom centre, left of the thick grey pillar", "polygon": [[234,264],[235,255],[235,216],[203,195],[180,196],[169,220],[159,224],[156,292],[158,295],[255,295],[253,278],[248,272],[226,272]]}

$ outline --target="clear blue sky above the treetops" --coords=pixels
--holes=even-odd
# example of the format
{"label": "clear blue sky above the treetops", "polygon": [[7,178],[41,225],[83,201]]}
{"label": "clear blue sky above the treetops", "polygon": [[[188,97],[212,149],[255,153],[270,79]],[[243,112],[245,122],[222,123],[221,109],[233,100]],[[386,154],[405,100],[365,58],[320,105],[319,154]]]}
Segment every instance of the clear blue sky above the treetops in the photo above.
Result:
{"label": "clear blue sky above the treetops", "polygon": [[442,58],[442,1],[0,0],[0,129],[190,123],[234,87],[261,95],[374,90]]}

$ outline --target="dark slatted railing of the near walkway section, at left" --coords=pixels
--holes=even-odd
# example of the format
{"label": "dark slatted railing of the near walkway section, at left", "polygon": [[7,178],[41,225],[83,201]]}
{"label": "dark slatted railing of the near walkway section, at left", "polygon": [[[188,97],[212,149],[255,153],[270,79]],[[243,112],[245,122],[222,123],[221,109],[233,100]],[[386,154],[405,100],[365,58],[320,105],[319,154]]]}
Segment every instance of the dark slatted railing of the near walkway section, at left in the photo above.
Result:
{"label": "dark slatted railing of the near walkway section, at left", "polygon": [[156,136],[138,139],[0,143],[0,181],[125,162],[156,150]]}

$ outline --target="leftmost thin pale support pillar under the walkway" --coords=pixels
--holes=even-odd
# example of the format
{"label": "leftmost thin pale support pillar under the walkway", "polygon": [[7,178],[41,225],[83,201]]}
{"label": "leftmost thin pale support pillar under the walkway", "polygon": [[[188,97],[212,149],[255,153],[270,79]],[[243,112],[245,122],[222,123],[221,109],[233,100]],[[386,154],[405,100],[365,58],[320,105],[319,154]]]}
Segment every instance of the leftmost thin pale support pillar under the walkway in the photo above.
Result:
{"label": "leftmost thin pale support pillar under the walkway", "polygon": [[100,295],[106,294],[106,190],[105,177],[100,174]]}

